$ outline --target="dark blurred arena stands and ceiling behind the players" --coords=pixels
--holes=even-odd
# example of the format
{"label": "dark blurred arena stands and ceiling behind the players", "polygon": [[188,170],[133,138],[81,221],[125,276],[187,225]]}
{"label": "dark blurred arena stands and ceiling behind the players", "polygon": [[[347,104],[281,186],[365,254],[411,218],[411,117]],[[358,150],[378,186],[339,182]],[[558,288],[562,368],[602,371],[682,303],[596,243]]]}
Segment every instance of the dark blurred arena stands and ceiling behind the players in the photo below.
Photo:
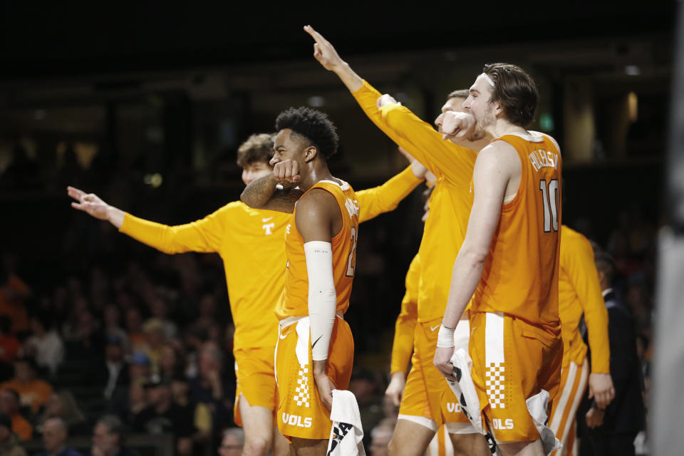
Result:
{"label": "dark blurred arena stands and ceiling behind the players", "polygon": [[[219,347],[224,400],[192,424],[190,451],[217,454],[222,431],[234,426],[235,388],[221,259],[157,252],[72,209],[66,187],[155,222],[200,219],[239,199],[240,143],[273,131],[281,110],[300,105],[338,126],[331,171],[356,190],[403,170],[396,145],[314,60],[305,24],[430,123],[447,93],[468,88],[484,63],[532,74],[540,93],[532,129],[553,135],[564,157],[563,222],[616,261],[614,288],[636,324],[648,406],[677,11],[674,1],[2,2],[0,313],[9,318],[0,318],[0,381],[14,381],[16,364],[28,363],[21,368],[36,368],[53,392],[41,391],[45,400],[33,407],[20,398],[30,426],[21,446],[43,451],[46,420],[61,416],[69,445],[89,454],[93,426],[114,414],[140,456],[175,454],[177,435],[133,426],[144,388],[139,397],[103,393],[105,346],[118,334],[124,348],[137,340],[150,351],[128,351],[130,363],[159,357],[182,373],[172,395],[196,417],[204,410],[198,353],[203,343]],[[423,188],[360,230],[346,320],[356,342],[351,389],[369,444],[371,428],[396,413],[383,393],[422,235]],[[164,340],[147,340],[159,323],[169,330]],[[63,357],[36,366],[26,361],[36,355],[26,341],[41,325],[61,341]],[[0,411],[11,415],[13,400],[0,398]],[[639,438],[637,454],[655,454],[647,426]]]}

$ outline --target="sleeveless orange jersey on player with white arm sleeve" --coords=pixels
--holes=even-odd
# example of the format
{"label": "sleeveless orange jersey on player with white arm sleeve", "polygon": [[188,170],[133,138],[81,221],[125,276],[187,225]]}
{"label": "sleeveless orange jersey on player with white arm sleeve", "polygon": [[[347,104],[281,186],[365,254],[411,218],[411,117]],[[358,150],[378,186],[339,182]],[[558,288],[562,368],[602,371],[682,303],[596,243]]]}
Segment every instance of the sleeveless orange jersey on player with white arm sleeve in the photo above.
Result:
{"label": "sleeveless orange jersey on player with white arm sleeve", "polygon": [[[330,180],[321,180],[307,190],[320,188],[329,192],[337,200],[342,214],[343,226],[332,239],[333,247],[333,279],[337,291],[337,312],[346,312],[351,295],[351,283],[356,267],[356,236],[358,234],[358,200],[356,194],[346,182],[338,185]],[[304,197],[302,195],[302,197]],[[306,273],[306,257],[304,256],[304,239],[297,230],[295,217],[297,208],[285,229],[285,254],[287,271],[285,273],[285,289],[276,305],[276,317],[279,320],[290,316],[309,315],[309,275]]]}

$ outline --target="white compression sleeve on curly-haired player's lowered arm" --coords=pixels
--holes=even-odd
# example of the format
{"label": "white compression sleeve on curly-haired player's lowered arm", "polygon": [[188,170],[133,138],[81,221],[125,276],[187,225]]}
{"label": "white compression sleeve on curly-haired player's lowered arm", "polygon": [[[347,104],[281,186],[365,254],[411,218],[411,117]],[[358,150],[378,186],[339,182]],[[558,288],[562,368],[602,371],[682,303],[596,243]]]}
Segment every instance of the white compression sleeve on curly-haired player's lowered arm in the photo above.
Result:
{"label": "white compression sleeve on curly-haired player's lowered arm", "polygon": [[333,246],[330,242],[306,242],[304,255],[309,276],[312,359],[323,361],[328,358],[328,345],[333,333],[337,308],[337,292],[333,279]]}

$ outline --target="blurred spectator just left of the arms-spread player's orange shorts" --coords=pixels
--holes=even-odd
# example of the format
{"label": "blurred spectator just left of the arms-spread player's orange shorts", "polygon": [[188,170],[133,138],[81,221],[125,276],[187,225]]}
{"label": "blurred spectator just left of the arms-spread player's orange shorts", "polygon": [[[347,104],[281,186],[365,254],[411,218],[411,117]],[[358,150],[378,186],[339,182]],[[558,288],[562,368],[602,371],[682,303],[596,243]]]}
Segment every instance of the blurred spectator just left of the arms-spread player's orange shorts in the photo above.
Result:
{"label": "blurred spectator just left of the arms-spread player's orange shorts", "polygon": [[209,406],[214,430],[232,423],[235,387],[221,378],[221,370],[221,351],[213,343],[205,343],[199,351],[197,376],[190,380],[190,398]]}

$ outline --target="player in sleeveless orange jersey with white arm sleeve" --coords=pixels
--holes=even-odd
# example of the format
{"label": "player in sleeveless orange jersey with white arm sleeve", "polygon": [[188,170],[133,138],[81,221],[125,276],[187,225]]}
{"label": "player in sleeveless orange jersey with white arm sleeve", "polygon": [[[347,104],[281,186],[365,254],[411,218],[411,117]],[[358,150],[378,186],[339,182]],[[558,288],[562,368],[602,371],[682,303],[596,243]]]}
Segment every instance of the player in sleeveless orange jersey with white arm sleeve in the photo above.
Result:
{"label": "player in sleeveless orange jersey with white arm sleeve", "polygon": [[325,455],[332,390],[348,388],[353,365],[343,315],[356,268],[359,205],[351,186],[328,170],[338,136],[327,115],[289,108],[278,115],[276,130],[273,172],[248,185],[241,199],[291,213],[285,288],[276,305],[276,419],[296,455]]}

